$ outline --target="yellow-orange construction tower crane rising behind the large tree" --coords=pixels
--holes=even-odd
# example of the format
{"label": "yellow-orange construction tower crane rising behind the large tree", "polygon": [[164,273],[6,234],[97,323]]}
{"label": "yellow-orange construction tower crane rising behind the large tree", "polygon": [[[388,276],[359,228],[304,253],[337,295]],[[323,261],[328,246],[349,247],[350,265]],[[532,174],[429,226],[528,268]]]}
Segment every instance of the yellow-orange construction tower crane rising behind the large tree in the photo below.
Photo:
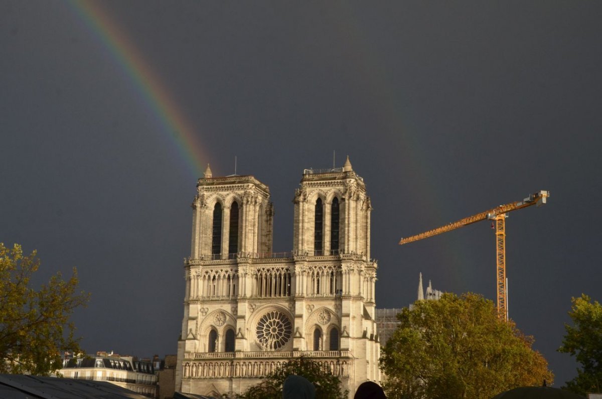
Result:
{"label": "yellow-orange construction tower crane rising behind the large tree", "polygon": [[523,201],[515,201],[514,203],[500,205],[497,208],[486,210],[485,212],[477,213],[468,218],[460,219],[457,222],[450,223],[445,226],[425,231],[424,233],[416,234],[415,236],[402,238],[399,245],[409,242],[418,241],[428,237],[436,236],[437,234],[445,233],[456,228],[463,227],[468,224],[480,222],[485,219],[494,221],[495,224],[495,260],[496,260],[496,276],[497,276],[497,310],[500,318],[508,319],[508,310],[506,307],[506,221],[508,217],[506,213],[513,210],[526,208],[536,205],[542,206],[546,199],[550,196],[548,191],[539,191],[524,198]]}

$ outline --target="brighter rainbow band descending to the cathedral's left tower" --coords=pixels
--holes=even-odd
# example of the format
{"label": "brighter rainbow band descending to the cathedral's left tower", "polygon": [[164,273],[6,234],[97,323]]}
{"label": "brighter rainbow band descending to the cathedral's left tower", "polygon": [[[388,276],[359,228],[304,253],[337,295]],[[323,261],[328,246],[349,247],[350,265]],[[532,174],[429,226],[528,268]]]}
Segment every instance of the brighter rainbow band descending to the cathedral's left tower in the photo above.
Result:
{"label": "brighter rainbow band descending to the cathedral's left tower", "polygon": [[131,80],[141,102],[160,122],[168,141],[175,146],[193,177],[199,177],[207,158],[196,131],[143,54],[98,2],[72,0],[70,3],[85,27],[104,45],[126,78]]}

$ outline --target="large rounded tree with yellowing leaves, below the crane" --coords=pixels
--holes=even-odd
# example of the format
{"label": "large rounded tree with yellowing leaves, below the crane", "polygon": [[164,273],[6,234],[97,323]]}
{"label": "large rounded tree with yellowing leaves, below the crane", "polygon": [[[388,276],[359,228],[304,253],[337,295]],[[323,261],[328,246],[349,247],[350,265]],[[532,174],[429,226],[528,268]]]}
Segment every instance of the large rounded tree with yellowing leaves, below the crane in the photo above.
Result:
{"label": "large rounded tree with yellowing leaves, below the crane", "polygon": [[480,295],[421,300],[403,309],[380,357],[388,398],[491,398],[553,382],[533,339]]}

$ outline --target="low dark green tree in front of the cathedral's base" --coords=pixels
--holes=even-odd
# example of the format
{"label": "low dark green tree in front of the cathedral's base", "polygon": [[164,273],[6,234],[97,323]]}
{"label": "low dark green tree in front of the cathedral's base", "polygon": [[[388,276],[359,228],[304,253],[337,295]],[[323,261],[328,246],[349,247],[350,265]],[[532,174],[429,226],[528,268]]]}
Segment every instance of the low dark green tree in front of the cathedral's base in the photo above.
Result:
{"label": "low dark green tree in front of the cathedral's base", "polygon": [[239,398],[281,399],[282,384],[291,374],[301,375],[315,386],[316,399],[346,399],[348,391],[341,391],[341,380],[330,369],[306,357],[290,360],[257,385],[250,386]]}

